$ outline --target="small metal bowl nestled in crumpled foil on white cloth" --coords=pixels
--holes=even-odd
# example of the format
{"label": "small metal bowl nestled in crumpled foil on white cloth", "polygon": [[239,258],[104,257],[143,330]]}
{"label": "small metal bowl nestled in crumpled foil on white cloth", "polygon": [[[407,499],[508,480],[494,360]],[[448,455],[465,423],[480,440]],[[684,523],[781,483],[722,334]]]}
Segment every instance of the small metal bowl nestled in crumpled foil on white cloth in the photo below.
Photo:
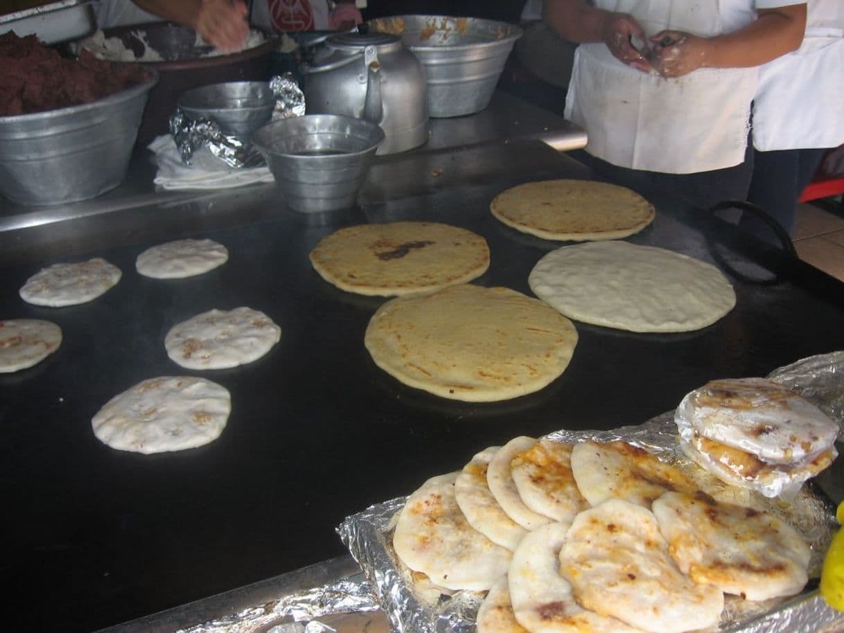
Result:
{"label": "small metal bowl nestled in crumpled foil on white cloth", "polygon": [[192,120],[210,119],[224,134],[244,139],[273,116],[275,95],[267,82],[230,81],[184,92],[179,107]]}

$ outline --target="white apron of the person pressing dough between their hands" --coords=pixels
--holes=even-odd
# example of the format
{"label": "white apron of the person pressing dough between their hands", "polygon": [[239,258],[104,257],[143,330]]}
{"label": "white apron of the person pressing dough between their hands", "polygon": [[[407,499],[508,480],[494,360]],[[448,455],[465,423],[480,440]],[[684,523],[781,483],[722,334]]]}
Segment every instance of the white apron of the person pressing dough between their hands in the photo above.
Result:
{"label": "white apron of the person pressing dough between their hands", "polygon": [[[655,35],[724,31],[724,0],[597,0]],[[747,0],[748,6],[752,4]],[[752,19],[748,11],[747,19]],[[734,30],[744,24],[730,24]],[[689,174],[744,161],[757,68],[701,68],[665,79],[619,62],[603,42],[577,47],[565,116],[587,131],[587,152],[636,170]]]}

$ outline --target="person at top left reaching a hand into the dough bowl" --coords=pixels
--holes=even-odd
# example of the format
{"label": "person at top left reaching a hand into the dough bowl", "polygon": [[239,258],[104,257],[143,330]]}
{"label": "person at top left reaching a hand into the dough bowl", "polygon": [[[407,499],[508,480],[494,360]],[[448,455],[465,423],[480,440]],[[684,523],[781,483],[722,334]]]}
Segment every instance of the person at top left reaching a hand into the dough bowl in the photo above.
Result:
{"label": "person at top left reaching a hand into the dough bowl", "polygon": [[241,0],[100,0],[95,5],[100,29],[167,19],[196,30],[222,51],[243,46],[249,35],[246,14]]}

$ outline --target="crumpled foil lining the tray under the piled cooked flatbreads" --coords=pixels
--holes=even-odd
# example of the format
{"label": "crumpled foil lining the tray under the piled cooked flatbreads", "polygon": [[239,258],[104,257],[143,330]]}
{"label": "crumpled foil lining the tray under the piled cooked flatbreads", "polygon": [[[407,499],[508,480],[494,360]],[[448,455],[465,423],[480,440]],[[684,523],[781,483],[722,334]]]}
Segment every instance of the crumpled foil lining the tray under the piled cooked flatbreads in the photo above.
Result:
{"label": "crumpled foil lining the tray under the piled cooked flatbreads", "polygon": [[[787,384],[804,398],[825,410],[839,425],[844,423],[844,352],[823,354],[799,360],[772,372],[769,378]],[[680,468],[709,494],[718,500],[755,506],[782,517],[811,544],[812,559],[809,578],[820,577],[826,549],[836,530],[835,508],[825,495],[804,486],[789,501],[767,499],[752,491],[723,484],[684,456],[678,444],[674,411],[669,411],[642,425],[625,426],[615,430],[558,430],[544,436],[556,441],[628,441],[657,454]],[[479,446],[481,450],[483,446]],[[471,457],[468,456],[467,459]],[[463,464],[455,464],[455,469]],[[420,484],[422,482],[419,482]],[[340,538],[360,564],[365,576],[378,592],[384,610],[396,633],[474,633],[475,617],[484,594],[458,591],[450,596],[430,591],[411,572],[392,549],[392,529],[398,511],[407,498],[402,497],[370,506],[338,527]],[[798,596],[776,598],[764,602],[725,596],[721,622],[712,631],[730,633],[809,633],[809,631],[840,630],[844,628],[844,614],[831,609],[809,586]]]}

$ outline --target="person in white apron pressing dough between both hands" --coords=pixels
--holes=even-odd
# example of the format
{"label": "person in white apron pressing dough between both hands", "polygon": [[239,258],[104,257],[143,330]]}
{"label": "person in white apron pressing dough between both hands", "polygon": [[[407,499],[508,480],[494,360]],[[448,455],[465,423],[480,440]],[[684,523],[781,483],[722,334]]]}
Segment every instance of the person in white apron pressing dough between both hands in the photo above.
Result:
{"label": "person in white apron pressing dough between both hands", "polygon": [[565,117],[605,176],[699,207],[745,199],[758,66],[803,40],[805,0],[546,0],[581,42]]}

